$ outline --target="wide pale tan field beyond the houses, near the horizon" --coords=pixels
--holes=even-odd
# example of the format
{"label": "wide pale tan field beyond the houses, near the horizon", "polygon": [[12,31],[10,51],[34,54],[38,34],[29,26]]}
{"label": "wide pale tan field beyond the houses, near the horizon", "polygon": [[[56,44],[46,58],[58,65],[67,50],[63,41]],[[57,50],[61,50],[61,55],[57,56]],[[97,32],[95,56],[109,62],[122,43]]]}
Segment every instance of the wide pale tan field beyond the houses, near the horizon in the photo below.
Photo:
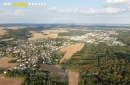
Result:
{"label": "wide pale tan field beyond the houses, near the horizon", "polygon": [[34,39],[39,39],[39,38],[57,38],[58,33],[60,32],[68,32],[68,31],[64,29],[44,30],[41,32],[30,31],[30,33],[32,33],[32,37],[29,38],[29,40],[34,40]]}

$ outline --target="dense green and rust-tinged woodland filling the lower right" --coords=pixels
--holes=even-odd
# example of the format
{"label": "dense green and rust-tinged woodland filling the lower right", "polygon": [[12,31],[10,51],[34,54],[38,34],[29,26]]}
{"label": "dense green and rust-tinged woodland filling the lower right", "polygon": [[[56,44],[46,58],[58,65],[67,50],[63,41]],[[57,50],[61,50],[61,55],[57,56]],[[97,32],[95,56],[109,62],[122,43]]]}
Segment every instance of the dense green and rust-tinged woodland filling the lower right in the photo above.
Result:
{"label": "dense green and rust-tinged woodland filling the lower right", "polygon": [[129,85],[130,47],[85,44],[62,66],[80,72],[79,85]]}

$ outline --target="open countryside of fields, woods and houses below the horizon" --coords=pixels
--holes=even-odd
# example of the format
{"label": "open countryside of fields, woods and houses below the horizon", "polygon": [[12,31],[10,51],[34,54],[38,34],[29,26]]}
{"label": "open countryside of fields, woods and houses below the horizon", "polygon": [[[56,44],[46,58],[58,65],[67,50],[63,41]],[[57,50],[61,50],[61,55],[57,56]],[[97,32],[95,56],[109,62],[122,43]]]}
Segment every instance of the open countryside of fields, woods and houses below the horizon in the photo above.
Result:
{"label": "open countryside of fields, woods and houses below the horizon", "polygon": [[129,28],[89,27],[2,29],[7,31],[0,38],[2,85],[127,85]]}

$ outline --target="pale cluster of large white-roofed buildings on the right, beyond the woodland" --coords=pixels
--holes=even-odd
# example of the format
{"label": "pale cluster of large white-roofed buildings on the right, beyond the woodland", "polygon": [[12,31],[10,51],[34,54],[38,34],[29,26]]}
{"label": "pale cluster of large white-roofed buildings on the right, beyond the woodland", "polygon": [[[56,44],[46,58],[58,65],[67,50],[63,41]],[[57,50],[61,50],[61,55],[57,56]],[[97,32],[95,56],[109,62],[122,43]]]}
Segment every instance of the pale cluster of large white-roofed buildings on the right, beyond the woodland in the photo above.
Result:
{"label": "pale cluster of large white-roofed buildings on the right, beyond the woodland", "polygon": [[70,40],[81,40],[95,44],[98,44],[99,42],[108,42],[108,44],[111,45],[124,45],[121,41],[117,41],[115,37],[111,37],[111,34],[118,35],[115,31],[93,31],[82,36],[72,36],[70,37]]}

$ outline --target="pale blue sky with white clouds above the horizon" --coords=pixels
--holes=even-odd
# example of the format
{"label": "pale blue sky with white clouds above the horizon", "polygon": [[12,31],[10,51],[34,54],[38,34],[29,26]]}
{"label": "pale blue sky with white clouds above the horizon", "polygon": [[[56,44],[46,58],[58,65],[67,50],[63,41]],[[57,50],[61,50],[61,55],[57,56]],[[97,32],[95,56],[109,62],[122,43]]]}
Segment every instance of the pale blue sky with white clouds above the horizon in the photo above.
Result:
{"label": "pale blue sky with white clouds above the horizon", "polygon": [[[12,2],[46,5],[3,5]],[[0,23],[130,24],[130,0],[0,0]]]}

